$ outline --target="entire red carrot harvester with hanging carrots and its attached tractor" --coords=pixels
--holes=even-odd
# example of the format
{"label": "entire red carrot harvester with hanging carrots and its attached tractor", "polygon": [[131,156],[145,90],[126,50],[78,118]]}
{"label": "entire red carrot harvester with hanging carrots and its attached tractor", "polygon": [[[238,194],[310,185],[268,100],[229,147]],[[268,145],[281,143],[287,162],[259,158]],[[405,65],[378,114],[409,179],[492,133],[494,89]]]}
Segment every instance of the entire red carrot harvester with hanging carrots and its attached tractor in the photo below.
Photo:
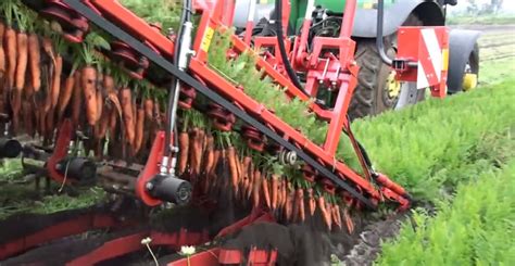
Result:
{"label": "entire red carrot harvester with hanging carrots and its attached tractor", "polygon": [[479,34],[444,26],[455,3],[4,1],[0,156],[109,201],[7,220],[0,259],[328,263],[360,220],[414,201],[351,122],[477,84]]}

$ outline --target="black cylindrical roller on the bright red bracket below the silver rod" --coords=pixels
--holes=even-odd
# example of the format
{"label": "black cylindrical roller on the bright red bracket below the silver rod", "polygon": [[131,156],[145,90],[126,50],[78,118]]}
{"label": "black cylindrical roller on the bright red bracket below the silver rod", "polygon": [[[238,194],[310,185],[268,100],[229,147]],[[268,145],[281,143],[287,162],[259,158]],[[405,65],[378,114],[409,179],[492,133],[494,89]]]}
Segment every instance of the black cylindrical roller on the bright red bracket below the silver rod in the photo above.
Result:
{"label": "black cylindrical roller on the bright red bracket below the silver rod", "polygon": [[186,205],[191,200],[191,185],[188,181],[161,174],[147,183],[147,191],[153,198],[177,205]]}

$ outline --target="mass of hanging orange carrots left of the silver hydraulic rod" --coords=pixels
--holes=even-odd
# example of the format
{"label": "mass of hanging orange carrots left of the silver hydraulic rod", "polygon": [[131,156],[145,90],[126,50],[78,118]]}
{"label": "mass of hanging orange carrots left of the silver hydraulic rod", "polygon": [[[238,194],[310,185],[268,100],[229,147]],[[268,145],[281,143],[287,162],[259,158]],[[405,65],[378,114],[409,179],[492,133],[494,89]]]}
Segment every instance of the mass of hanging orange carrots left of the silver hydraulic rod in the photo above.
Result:
{"label": "mass of hanging orange carrots left of the silver hydraulic rod", "polygon": [[18,0],[2,1],[0,11],[0,113],[11,117],[13,135],[51,144],[59,125],[71,119],[97,155],[109,139],[130,156],[150,149],[164,105],[153,86],[130,80],[95,50],[106,42],[100,35],[72,45]]}

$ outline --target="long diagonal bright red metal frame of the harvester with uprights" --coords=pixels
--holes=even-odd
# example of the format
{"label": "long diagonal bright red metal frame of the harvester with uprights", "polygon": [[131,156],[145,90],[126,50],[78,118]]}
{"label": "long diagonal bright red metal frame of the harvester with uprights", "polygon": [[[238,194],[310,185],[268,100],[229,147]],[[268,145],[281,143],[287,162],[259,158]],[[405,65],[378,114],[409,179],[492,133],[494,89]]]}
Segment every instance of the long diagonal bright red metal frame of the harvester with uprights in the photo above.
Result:
{"label": "long diagonal bright red metal frame of the harvester with uprights", "polygon": [[[136,36],[146,36],[146,33],[152,31],[150,25],[142,23],[139,17],[133,15],[129,11],[121,8],[120,4],[112,0],[91,0],[92,4],[102,12],[102,15],[113,20],[118,25],[124,28],[129,28],[130,30],[136,31]],[[234,101],[244,111],[250,114],[253,114],[256,118],[261,119],[266,125],[271,126],[277,132],[284,135],[286,139],[289,139],[291,142],[296,143],[299,148],[302,148],[304,151],[311,153],[313,156],[318,157],[319,162],[323,163],[326,167],[332,168],[339,173],[339,175],[360,189],[364,193],[368,194],[375,201],[382,201],[382,192],[387,188],[377,189],[370,180],[363,178],[354,170],[352,170],[344,163],[339,162],[335,157],[335,152],[339,143],[339,137],[341,129],[347,123],[347,110],[349,102],[353,92],[353,89],[356,85],[356,75],[357,75],[357,65],[353,59],[355,43],[350,38],[352,31],[352,25],[354,21],[356,1],[351,0],[347,1],[344,9],[343,25],[338,38],[322,38],[315,37],[313,41],[313,51],[310,55],[306,55],[306,51],[297,51],[294,54],[304,54],[302,58],[302,64],[297,64],[299,67],[304,67],[307,72],[307,83],[306,90],[315,93],[321,80],[322,84],[335,86],[339,92],[337,98],[337,105],[335,110],[322,110],[316,104],[312,105],[313,111],[324,119],[329,121],[329,130],[327,132],[327,138],[324,147],[319,147],[309,140],[305,136],[299,132],[297,129],[292,128],[284,121],[278,118],[272,111],[266,110],[261,103],[256,102],[249,96],[247,96],[243,90],[234,86],[225,78],[221,77],[215,71],[209,67],[206,64],[208,50],[211,45],[211,39],[214,35],[214,30],[226,30],[228,24],[233,21],[233,13],[227,12],[228,7],[234,7],[234,1],[231,0],[206,0],[193,1],[193,9],[198,14],[201,14],[200,24],[197,29],[197,36],[193,42],[193,50],[196,55],[190,60],[189,71],[190,73],[197,75],[199,78],[205,80],[212,89],[224,94],[227,99]],[[122,15],[121,15],[122,14]],[[122,20],[123,18],[123,22]],[[161,36],[159,38],[162,41],[162,46],[173,47],[173,42]],[[253,50],[237,36],[231,38],[234,45],[234,51],[241,53],[243,51]],[[303,47],[302,43],[297,47]],[[304,46],[305,47],[305,46]],[[339,54],[329,54],[323,51],[326,48],[339,49]],[[321,60],[322,59],[322,60]],[[328,64],[327,64],[328,62]],[[327,66],[326,66],[327,65]],[[265,60],[259,59],[256,67],[264,69],[265,75],[272,77],[278,85],[287,88],[286,93],[289,97],[298,97],[301,100],[307,101],[309,97],[303,94],[291,81],[285,77],[281,73],[274,69],[274,67],[268,64]],[[152,154],[156,154],[153,153]],[[150,159],[154,155],[149,156]],[[161,156],[159,156],[161,157]],[[155,163],[158,160],[153,160]],[[150,163],[150,162],[149,162]],[[148,163],[148,165],[150,165]],[[152,166],[156,167],[156,166]],[[146,176],[146,175],[142,175]],[[138,185],[138,187],[142,188]],[[138,195],[145,198],[143,190],[139,189]],[[390,199],[398,201],[401,205],[407,205],[407,200],[402,194],[390,193]],[[147,202],[148,204],[149,202]],[[156,204],[156,202],[150,202],[151,205]]]}

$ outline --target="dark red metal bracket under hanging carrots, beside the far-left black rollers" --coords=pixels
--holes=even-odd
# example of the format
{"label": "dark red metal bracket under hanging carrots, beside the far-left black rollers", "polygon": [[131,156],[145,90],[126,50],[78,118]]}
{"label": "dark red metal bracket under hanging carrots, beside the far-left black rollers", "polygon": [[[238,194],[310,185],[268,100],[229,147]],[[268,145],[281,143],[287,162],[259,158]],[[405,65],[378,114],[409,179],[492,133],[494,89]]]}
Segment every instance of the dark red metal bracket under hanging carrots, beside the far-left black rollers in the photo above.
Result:
{"label": "dark red metal bracket under hanging carrots, beside the far-left black rollers", "polygon": [[66,183],[71,182],[71,179],[64,180],[64,175],[58,172],[58,164],[63,161],[67,155],[68,144],[72,140],[73,135],[73,125],[72,121],[64,119],[63,124],[59,128],[58,140],[55,141],[55,147],[53,149],[52,156],[47,161],[47,172],[50,178],[58,182],[65,181]]}

